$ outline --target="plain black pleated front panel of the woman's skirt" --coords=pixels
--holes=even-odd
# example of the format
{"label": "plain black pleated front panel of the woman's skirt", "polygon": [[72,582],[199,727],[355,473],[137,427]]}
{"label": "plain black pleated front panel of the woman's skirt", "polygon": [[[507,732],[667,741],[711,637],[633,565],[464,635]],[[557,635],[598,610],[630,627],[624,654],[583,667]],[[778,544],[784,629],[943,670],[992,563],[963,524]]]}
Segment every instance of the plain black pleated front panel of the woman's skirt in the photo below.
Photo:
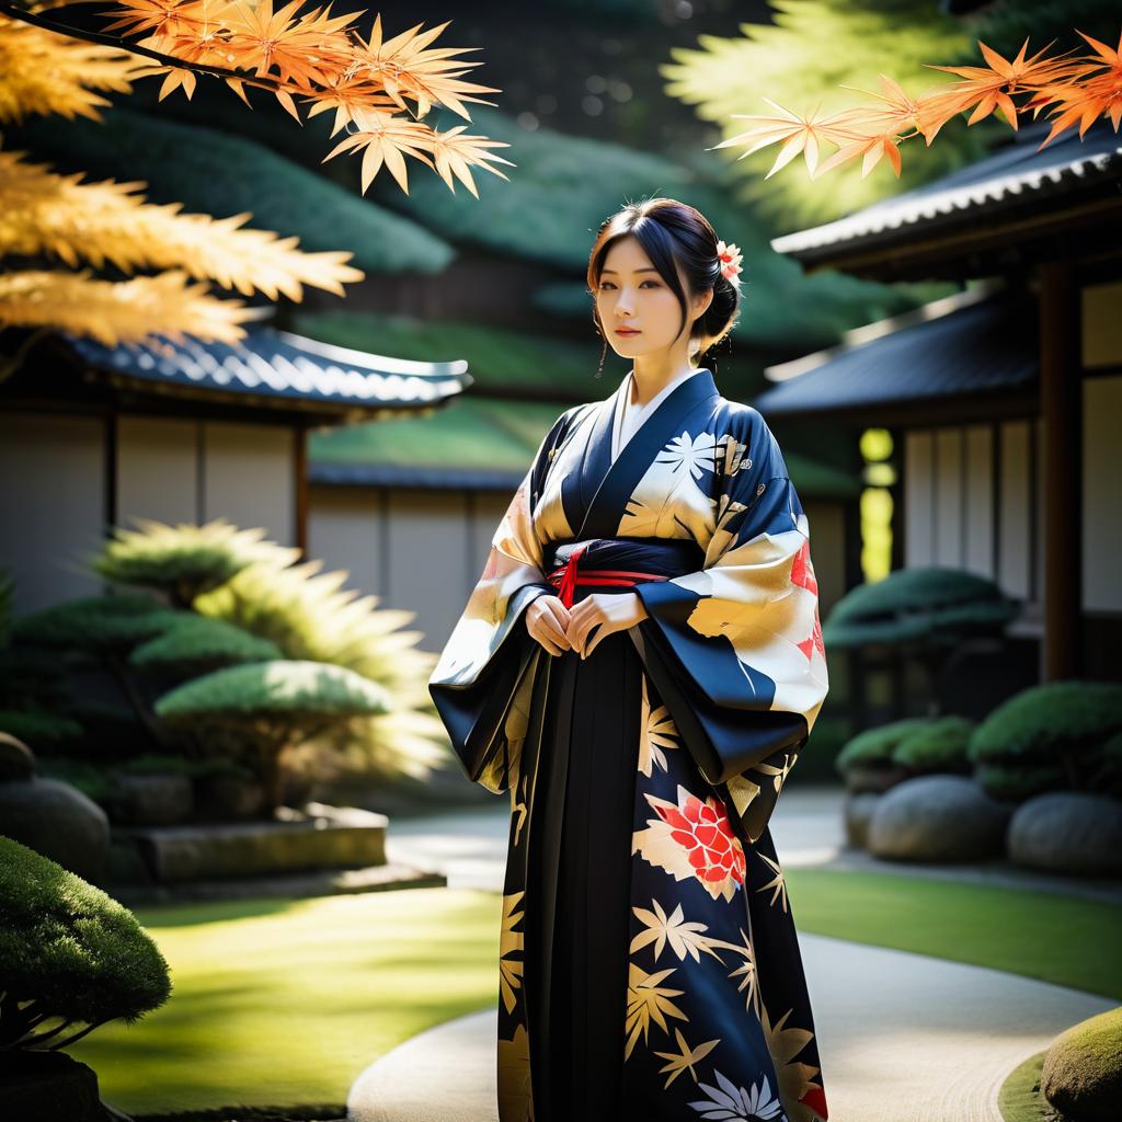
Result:
{"label": "plain black pleated front panel of the woman's skirt", "polygon": [[526,839],[533,1116],[616,1122],[626,1116],[626,902],[642,663],[626,631],[601,638],[586,660],[572,651],[546,659],[531,710],[531,728],[543,724]]}

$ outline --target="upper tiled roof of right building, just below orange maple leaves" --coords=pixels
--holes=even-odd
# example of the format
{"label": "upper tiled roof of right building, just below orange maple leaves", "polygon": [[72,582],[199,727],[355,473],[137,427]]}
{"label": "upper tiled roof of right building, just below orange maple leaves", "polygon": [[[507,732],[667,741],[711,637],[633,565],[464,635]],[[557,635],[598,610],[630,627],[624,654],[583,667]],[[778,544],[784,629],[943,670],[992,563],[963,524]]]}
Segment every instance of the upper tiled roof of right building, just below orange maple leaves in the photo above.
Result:
{"label": "upper tiled roof of right building, just below orange maple leaves", "polygon": [[773,238],[772,249],[809,261],[828,256],[827,247],[873,246],[919,228],[977,223],[982,215],[1122,178],[1122,137],[1109,122],[1092,126],[1083,139],[1072,129],[1038,151],[1050,128],[1050,121],[1021,126],[1013,142],[984,159],[834,222]]}

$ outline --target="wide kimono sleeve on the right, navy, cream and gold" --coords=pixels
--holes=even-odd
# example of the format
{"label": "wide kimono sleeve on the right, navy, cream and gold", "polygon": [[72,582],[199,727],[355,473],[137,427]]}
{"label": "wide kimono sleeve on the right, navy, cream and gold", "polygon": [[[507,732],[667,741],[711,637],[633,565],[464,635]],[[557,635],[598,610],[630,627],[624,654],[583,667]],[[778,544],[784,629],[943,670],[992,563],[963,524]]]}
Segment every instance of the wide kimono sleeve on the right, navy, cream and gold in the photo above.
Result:
{"label": "wide kimono sleeve on the right, navy, cream and gold", "polygon": [[632,628],[702,776],[755,842],[828,689],[810,527],[763,417],[724,440],[716,530],[697,572],[643,583]]}

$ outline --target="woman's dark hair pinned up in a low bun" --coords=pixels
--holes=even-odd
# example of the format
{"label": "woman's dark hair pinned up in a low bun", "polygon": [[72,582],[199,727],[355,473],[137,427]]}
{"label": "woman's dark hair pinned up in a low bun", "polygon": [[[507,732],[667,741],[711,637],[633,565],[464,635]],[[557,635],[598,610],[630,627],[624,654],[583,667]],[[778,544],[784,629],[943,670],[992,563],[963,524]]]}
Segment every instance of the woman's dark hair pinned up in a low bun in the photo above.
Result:
{"label": "woman's dark hair pinned up in a low bun", "polygon": [[[697,318],[690,332],[690,339],[698,344],[690,349],[691,355],[697,356],[693,361],[697,361],[732,331],[741,307],[741,293],[738,286],[720,272],[717,234],[709,220],[689,203],[656,197],[628,203],[623,210],[605,219],[592,243],[587,284],[594,301],[592,322],[604,339],[601,368],[608,349],[608,337],[596,307],[596,293],[599,291],[600,274],[608,250],[615,241],[628,234],[638,240],[651,258],[651,264],[678,298],[682,310],[678,334],[681,334],[689,316],[689,300],[678,279],[675,263],[686,274],[691,295],[712,288],[708,309]],[[716,362],[714,367],[716,368]]]}

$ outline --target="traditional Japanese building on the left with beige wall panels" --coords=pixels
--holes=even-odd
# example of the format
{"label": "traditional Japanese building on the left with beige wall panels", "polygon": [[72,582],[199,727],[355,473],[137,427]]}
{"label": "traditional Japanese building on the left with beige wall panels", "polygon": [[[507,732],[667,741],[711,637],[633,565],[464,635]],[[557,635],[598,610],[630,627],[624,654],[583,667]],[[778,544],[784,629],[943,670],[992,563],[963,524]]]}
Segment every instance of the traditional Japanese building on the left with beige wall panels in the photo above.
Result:
{"label": "traditional Japanese building on the left with beige wall panels", "polygon": [[259,324],[238,346],[49,335],[0,384],[0,568],[16,611],[96,591],[85,560],[134,517],[224,517],[306,549],[309,432],[431,415],[470,383],[463,361]]}

